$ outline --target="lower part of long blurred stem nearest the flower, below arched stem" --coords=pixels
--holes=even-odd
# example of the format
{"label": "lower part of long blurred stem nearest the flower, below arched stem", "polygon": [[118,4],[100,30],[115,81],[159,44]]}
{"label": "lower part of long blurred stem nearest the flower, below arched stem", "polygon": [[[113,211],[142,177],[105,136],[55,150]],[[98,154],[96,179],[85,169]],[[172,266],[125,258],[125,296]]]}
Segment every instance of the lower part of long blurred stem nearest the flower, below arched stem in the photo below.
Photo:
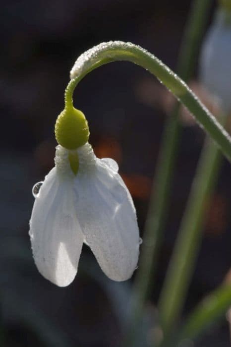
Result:
{"label": "lower part of long blurred stem nearest the flower, below arched stem", "polygon": [[136,337],[139,335],[139,325],[142,323],[141,321],[144,315],[144,304],[153,288],[151,280],[162,243],[163,229],[165,227],[171,192],[174,161],[178,148],[180,125],[176,117],[177,109],[173,115],[168,117],[164,129],[153,192],[145,223],[139,267],[133,286],[131,312],[125,333],[124,346],[134,346]]}

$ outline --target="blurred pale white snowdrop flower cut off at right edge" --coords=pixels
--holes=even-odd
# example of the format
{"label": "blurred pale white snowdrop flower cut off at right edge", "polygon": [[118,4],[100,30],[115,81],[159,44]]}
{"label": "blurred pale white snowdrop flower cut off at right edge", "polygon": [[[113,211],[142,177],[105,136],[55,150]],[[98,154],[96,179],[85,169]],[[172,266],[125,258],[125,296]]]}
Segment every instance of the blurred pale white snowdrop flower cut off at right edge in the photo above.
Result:
{"label": "blurred pale white snowdrop flower cut off at right edge", "polygon": [[231,1],[222,0],[200,57],[200,80],[218,97],[226,113],[231,112]]}

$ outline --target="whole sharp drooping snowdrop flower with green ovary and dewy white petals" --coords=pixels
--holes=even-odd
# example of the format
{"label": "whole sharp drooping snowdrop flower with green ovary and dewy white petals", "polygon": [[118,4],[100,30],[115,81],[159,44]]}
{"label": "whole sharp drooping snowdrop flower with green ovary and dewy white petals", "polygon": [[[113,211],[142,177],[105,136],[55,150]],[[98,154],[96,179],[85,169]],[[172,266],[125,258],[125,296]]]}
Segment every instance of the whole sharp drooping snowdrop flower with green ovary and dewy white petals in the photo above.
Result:
{"label": "whole sharp drooping snowdrop flower with green ovary and dewy white petals", "polygon": [[56,124],[55,167],[36,191],[30,220],[39,272],[54,284],[74,279],[82,245],[94,253],[112,280],[131,277],[139,255],[139,230],[132,198],[112,159],[98,159],[88,143],[84,115],[64,110]]}

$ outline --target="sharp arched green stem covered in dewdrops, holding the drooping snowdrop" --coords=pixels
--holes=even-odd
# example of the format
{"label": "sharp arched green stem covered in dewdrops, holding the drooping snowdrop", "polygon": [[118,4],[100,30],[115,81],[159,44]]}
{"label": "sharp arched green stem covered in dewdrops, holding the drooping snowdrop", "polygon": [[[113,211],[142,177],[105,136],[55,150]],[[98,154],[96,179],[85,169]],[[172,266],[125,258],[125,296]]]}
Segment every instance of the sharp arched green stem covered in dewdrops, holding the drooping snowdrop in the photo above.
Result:
{"label": "sharp arched green stem covered in dewdrops, holding the drooping snowdrop", "polygon": [[103,43],[80,56],[71,71],[72,79],[66,88],[65,102],[72,102],[74,88],[87,73],[96,67],[116,60],[131,61],[155,75],[195,116],[224,155],[231,160],[231,138],[216,118],[168,66],[143,48],[131,43],[120,41]]}

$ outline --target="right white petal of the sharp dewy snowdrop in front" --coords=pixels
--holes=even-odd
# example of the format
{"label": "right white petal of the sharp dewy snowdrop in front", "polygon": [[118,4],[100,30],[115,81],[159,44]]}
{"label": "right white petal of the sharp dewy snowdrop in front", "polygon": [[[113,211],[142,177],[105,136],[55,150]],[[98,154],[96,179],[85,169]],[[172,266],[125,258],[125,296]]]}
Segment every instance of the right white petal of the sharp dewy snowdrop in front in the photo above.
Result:
{"label": "right white petal of the sharp dewy snowdrop in front", "polygon": [[99,265],[112,280],[127,280],[138,261],[139,230],[122,178],[97,159],[94,168],[77,174],[75,191],[81,230]]}

